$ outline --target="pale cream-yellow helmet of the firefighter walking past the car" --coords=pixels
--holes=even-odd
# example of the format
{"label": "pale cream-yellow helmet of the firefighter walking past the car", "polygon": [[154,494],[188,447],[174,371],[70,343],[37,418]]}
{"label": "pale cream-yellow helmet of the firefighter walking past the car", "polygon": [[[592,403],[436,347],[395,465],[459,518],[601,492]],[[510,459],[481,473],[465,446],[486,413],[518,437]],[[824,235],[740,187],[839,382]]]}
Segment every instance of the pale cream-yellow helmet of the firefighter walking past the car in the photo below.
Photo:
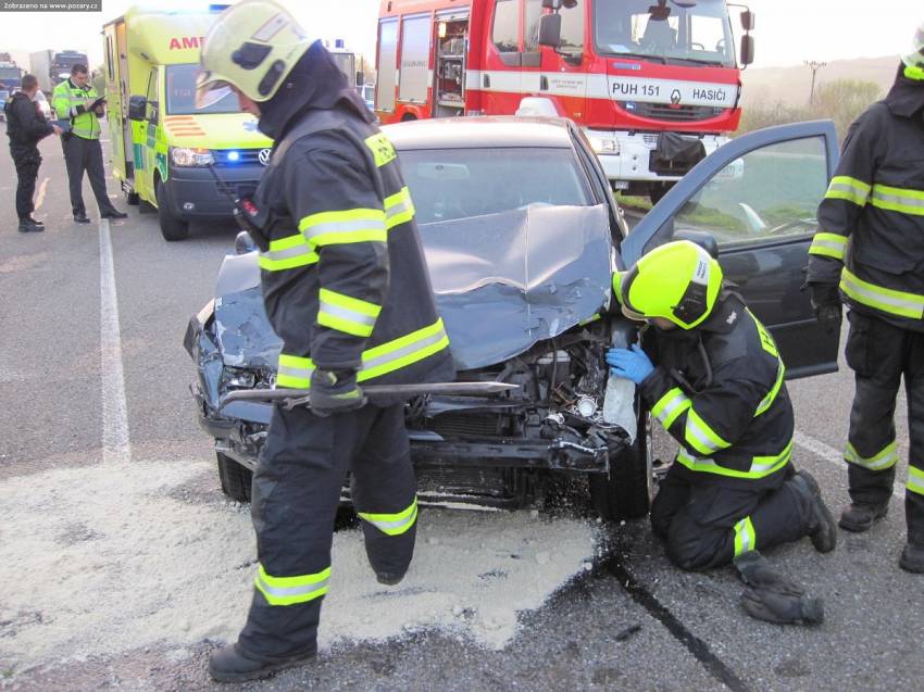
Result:
{"label": "pale cream-yellow helmet of the firefighter walking past the car", "polygon": [[215,103],[230,87],[253,101],[269,101],[313,42],[278,2],[241,0],[229,7],[205,35],[197,106]]}

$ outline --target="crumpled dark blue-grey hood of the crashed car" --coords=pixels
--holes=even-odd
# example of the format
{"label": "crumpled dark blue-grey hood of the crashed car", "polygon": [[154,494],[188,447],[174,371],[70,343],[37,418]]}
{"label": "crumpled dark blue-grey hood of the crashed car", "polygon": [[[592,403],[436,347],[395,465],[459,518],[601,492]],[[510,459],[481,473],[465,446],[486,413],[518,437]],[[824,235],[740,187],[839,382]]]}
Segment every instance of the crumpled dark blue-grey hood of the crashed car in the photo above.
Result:
{"label": "crumpled dark blue-grey hood of the crashed car", "polygon": [[[610,299],[603,205],[532,205],[422,224],[420,231],[460,370],[519,355],[589,319]],[[263,310],[257,253],[225,257],[215,322],[225,365],[275,366],[282,342]]]}

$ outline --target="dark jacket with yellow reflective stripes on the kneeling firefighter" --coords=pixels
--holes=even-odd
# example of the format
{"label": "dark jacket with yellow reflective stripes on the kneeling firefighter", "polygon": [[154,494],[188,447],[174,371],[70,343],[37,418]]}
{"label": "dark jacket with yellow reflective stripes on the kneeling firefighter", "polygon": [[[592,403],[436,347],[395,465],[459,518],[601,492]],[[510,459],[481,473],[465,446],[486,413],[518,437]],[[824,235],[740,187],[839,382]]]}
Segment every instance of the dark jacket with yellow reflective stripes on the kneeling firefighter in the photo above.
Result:
{"label": "dark jacket with yellow reflective stripes on the kneeling firefighter", "polygon": [[776,482],[792,454],[786,367],[770,331],[734,294],[696,329],[658,334],[658,366],[639,391],[703,482]]}

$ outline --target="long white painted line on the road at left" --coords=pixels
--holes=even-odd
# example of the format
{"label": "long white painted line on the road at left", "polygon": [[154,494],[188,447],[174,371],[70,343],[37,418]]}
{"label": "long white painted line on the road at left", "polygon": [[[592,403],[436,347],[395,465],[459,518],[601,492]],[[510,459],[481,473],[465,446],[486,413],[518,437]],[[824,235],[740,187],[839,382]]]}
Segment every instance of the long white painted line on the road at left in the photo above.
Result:
{"label": "long white painted line on the road at left", "polygon": [[100,350],[102,375],[102,461],[103,464],[132,460],[128,438],[128,405],[122,372],[122,336],[118,328],[118,298],[109,219],[99,224],[100,242]]}

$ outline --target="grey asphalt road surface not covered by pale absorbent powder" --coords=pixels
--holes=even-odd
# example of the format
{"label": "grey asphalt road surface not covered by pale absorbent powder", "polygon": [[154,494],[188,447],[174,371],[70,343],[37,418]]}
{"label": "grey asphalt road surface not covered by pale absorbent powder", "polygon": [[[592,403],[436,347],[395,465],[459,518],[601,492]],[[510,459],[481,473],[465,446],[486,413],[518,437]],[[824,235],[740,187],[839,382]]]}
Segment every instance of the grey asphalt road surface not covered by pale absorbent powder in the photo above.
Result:
{"label": "grey asphalt road surface not covered by pale absorbent powder", "polygon": [[[212,295],[222,256],[233,248],[234,228],[200,227],[186,242],[166,243],[155,216],[127,207],[110,181],[116,203],[130,215],[108,229],[115,280],[107,286],[100,270],[107,229],[72,223],[58,142],[46,141],[42,153],[36,215],[48,229],[20,235],[13,168],[5,148],[0,152],[0,218],[5,219],[0,225],[0,498],[8,482],[45,478],[48,469],[101,464],[104,428],[107,439],[118,439],[120,430],[107,423],[111,407],[121,405],[121,380],[107,360],[113,324],[128,436],[127,446],[116,452],[130,450],[132,463],[213,458],[195,420],[187,389],[192,367],[182,339],[189,315]],[[85,198],[96,219],[88,187]],[[105,248],[103,242],[103,256]],[[113,298],[114,322],[101,310]],[[103,363],[110,365],[103,368]],[[851,377],[841,369],[791,382],[790,392],[797,464],[815,475],[837,512],[847,496],[838,450],[847,431]],[[900,411],[903,415],[903,401]],[[907,460],[907,422],[897,420],[897,427]],[[105,452],[113,453],[112,446]],[[903,483],[904,462],[899,478]],[[217,502],[220,493],[213,474],[198,474],[182,489],[192,504]],[[496,520],[504,523],[505,515],[497,514]],[[14,531],[15,526],[0,524],[0,553]],[[439,631],[415,632],[384,644],[339,644],[311,666],[247,689],[920,689],[924,578],[899,570],[903,541],[903,507],[895,498],[884,521],[867,534],[841,533],[831,555],[815,553],[808,540],[773,551],[776,564],[826,603],[824,625],[778,627],[742,614],[737,606],[741,587],[731,570],[679,573],[647,524],[630,523],[610,530],[592,571],[522,616],[520,634],[503,651]],[[233,621],[241,616],[228,613]],[[9,625],[0,621],[0,688],[212,687],[205,674],[208,654],[216,645],[212,641],[183,655],[170,646],[126,646],[117,655],[16,670],[4,665],[4,637],[13,632]]]}

